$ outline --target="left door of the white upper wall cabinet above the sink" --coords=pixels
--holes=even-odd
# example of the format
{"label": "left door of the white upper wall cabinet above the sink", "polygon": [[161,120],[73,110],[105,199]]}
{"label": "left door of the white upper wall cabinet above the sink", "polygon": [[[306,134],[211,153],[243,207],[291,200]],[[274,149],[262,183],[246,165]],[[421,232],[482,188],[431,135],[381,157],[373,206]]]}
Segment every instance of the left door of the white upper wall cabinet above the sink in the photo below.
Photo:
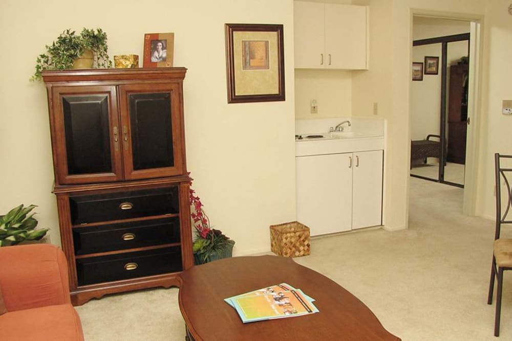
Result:
{"label": "left door of the white upper wall cabinet above the sink", "polygon": [[[323,68],[325,5],[293,2],[295,69]],[[323,56],[324,62],[326,56]]]}

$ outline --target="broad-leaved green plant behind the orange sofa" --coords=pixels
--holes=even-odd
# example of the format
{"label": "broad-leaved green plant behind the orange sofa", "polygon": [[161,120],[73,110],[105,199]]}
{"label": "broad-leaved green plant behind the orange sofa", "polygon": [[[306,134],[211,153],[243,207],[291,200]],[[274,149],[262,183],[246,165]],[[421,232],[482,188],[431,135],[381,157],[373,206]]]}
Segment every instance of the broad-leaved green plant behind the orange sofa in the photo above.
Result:
{"label": "broad-leaved green plant behind the orange sofa", "polygon": [[28,215],[36,207],[24,207],[21,204],[6,215],[0,216],[0,246],[16,245],[25,240],[40,240],[46,235],[49,229],[35,229],[35,213]]}

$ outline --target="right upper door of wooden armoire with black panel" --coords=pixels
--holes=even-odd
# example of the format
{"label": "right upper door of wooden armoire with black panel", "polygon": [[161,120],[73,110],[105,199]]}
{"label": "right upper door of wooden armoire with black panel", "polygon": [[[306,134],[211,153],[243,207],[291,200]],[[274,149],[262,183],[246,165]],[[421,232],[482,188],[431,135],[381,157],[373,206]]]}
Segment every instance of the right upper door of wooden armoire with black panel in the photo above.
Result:
{"label": "right upper door of wooden armoire with black panel", "polygon": [[119,86],[124,178],[183,174],[178,83]]}

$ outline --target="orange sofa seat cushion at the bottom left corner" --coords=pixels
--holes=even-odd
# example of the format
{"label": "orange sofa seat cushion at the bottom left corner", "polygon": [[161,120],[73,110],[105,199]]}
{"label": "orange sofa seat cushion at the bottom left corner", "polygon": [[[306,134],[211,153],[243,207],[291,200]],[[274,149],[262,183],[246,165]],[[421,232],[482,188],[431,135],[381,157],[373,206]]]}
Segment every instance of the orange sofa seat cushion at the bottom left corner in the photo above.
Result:
{"label": "orange sofa seat cushion at the bottom left corner", "polygon": [[10,311],[0,315],[3,340],[83,341],[80,317],[71,304]]}

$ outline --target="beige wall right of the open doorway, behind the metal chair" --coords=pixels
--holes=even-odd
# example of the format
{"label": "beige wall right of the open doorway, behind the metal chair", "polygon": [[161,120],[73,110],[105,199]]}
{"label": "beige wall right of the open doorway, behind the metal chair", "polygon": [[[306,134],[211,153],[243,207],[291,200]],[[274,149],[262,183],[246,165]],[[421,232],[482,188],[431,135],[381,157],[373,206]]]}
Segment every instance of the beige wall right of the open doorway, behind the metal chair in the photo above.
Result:
{"label": "beige wall right of the open doorway, behind the metal chair", "polygon": [[510,1],[493,0],[485,13],[482,65],[482,108],[479,131],[477,214],[494,219],[494,153],[512,154],[512,116],[501,113],[502,100],[512,100],[512,16]]}

